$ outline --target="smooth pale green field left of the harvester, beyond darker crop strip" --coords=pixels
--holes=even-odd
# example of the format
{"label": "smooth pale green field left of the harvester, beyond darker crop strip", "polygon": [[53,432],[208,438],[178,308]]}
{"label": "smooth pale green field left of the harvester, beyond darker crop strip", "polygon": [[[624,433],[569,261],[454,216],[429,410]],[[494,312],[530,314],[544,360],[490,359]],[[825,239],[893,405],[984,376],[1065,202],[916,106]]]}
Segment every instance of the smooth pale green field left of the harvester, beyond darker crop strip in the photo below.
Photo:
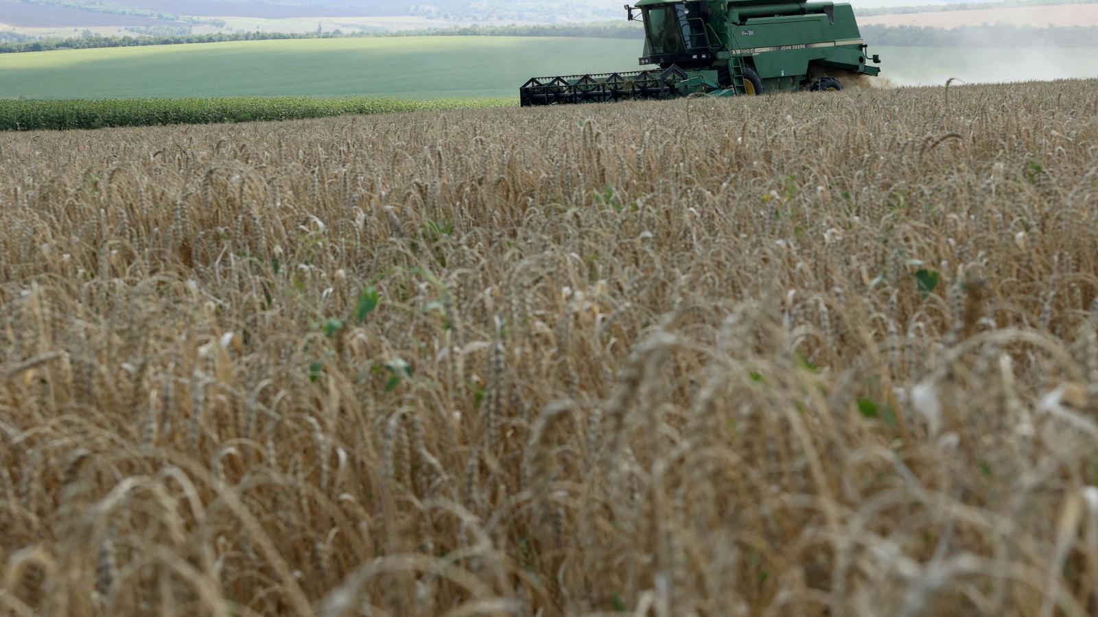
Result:
{"label": "smooth pale green field left of the harvester, beyond darker crop strip", "polygon": [[[515,97],[530,77],[638,67],[638,41],[416,36],[0,55],[0,97]],[[639,68],[639,67],[638,67]]]}

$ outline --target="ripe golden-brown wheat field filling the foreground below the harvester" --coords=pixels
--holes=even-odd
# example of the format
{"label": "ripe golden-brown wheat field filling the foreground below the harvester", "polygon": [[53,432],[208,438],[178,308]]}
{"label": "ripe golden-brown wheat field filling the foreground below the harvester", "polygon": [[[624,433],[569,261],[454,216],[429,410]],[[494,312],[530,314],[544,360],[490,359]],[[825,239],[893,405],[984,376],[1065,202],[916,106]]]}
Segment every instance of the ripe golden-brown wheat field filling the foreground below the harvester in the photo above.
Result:
{"label": "ripe golden-brown wheat field filling the foreground below the harvester", "polygon": [[0,136],[0,612],[1098,610],[1098,82]]}

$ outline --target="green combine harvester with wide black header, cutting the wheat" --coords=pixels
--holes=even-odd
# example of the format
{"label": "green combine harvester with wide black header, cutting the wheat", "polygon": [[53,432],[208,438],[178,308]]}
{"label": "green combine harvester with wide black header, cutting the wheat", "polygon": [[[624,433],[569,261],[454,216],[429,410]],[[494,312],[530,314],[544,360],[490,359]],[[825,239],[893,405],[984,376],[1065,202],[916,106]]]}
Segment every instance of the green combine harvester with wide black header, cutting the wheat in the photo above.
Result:
{"label": "green combine harvester with wide black header, cutting the wheat", "polygon": [[[640,0],[648,70],[530,79],[523,106],[842,90],[841,76],[876,76],[850,4],[774,0]],[[639,13],[639,15],[638,15]]]}

